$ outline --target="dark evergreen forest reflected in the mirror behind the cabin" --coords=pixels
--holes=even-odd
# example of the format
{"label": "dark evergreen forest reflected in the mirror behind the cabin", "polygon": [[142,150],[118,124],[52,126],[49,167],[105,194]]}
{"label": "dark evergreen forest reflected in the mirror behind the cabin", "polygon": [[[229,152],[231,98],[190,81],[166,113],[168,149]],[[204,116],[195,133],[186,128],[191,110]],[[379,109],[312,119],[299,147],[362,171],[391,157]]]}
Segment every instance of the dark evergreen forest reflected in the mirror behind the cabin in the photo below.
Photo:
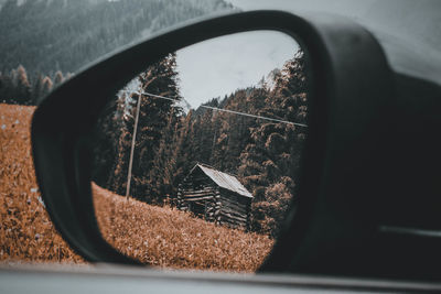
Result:
{"label": "dark evergreen forest reflected in the mirror behind the cabin", "polygon": [[[237,89],[206,106],[306,123],[308,80],[304,56],[298,52],[275,77],[275,85]],[[141,99],[133,154],[130,195],[161,205],[176,196],[178,185],[197,163],[237,175],[255,196],[254,231],[273,237],[289,205],[295,203],[295,183],[306,128],[255,119],[200,107],[185,112],[180,104],[175,56],[150,66],[133,81],[143,92],[120,92],[96,124],[94,181],[125,195],[135,111]]]}

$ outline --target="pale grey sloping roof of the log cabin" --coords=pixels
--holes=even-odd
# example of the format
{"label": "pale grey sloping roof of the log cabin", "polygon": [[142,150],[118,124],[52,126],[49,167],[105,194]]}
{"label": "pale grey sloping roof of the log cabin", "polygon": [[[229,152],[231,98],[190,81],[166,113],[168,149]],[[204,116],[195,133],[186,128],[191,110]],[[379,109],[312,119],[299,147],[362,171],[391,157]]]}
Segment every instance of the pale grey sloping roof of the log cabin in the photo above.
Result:
{"label": "pale grey sloping roof of the log cabin", "polygon": [[[197,167],[200,167],[204,174],[206,174],[211,179],[213,179],[219,187],[235,192],[241,196],[252,198],[252,194],[247,190],[246,187],[244,187],[243,184],[233,175],[219,172],[211,166],[207,166],[205,164],[196,164]],[[196,167],[194,166],[192,171]]]}

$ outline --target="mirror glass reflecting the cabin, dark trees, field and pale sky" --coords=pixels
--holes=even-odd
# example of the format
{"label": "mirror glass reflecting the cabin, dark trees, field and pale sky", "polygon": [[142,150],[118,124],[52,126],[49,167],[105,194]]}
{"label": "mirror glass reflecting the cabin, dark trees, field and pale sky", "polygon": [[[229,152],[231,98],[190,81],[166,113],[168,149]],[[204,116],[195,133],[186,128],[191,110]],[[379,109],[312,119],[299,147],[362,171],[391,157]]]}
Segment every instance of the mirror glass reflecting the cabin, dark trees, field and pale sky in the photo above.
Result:
{"label": "mirror glass reflecting the cabin, dark trees, field and pale sky", "polygon": [[295,207],[308,91],[305,55],[273,31],[201,42],[146,68],[95,128],[105,240],[161,268],[256,271]]}

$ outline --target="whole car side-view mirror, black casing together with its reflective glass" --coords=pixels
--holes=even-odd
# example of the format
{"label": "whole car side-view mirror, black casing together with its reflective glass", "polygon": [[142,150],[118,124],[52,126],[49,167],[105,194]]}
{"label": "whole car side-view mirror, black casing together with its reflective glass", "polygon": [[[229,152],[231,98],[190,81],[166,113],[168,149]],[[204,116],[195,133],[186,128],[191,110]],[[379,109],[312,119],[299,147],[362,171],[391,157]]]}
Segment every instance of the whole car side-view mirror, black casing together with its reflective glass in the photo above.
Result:
{"label": "whole car side-view mirror, black casing together with its reflective glass", "polygon": [[394,97],[358,24],[202,20],[54,90],[33,117],[36,176],[55,227],[92,262],[218,270],[224,251],[244,254],[224,270],[394,276],[404,261],[377,204]]}

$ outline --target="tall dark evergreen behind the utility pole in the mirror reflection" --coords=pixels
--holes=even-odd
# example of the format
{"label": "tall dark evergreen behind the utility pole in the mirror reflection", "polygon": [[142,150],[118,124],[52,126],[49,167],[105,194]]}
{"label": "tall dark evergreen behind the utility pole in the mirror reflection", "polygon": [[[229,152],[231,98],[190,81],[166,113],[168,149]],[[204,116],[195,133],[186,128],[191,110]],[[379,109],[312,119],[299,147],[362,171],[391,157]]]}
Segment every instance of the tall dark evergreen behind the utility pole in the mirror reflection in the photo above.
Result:
{"label": "tall dark evergreen behind the utility pole in the mirror reflection", "polygon": [[[161,203],[163,194],[169,193],[169,189],[163,187],[164,181],[170,181],[174,170],[173,163],[166,162],[172,152],[169,141],[175,140],[172,133],[178,130],[182,116],[182,110],[175,107],[175,101],[181,99],[175,67],[175,55],[170,54],[149,66],[137,77],[133,85],[137,85],[138,91],[142,94],[132,92],[130,96],[120,96],[118,106],[122,113],[119,119],[122,122],[120,127],[116,122],[112,126],[121,131],[115,144],[116,157],[112,162],[116,164],[111,177],[112,189],[119,194],[126,193],[138,99],[141,100],[130,194],[148,203]],[[148,94],[171,97],[175,101]],[[162,138],[164,134],[165,137]],[[168,172],[169,178],[164,178],[162,171]]]}

